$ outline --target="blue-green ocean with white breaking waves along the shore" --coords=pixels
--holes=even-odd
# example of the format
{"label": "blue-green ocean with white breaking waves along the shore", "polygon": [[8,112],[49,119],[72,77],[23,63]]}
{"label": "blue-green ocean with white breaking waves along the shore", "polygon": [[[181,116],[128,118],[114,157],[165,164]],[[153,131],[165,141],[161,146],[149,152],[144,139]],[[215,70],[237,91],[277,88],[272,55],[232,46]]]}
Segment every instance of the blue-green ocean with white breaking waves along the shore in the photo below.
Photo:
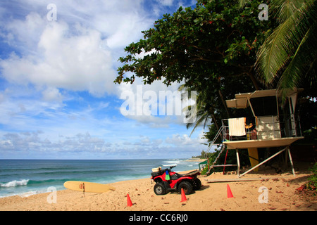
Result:
{"label": "blue-green ocean with white breaking waves along the shore", "polygon": [[199,169],[199,162],[186,159],[162,160],[0,160],[0,198],[65,189],[66,181],[110,184],[118,181],[151,178],[154,167],[181,172]]}

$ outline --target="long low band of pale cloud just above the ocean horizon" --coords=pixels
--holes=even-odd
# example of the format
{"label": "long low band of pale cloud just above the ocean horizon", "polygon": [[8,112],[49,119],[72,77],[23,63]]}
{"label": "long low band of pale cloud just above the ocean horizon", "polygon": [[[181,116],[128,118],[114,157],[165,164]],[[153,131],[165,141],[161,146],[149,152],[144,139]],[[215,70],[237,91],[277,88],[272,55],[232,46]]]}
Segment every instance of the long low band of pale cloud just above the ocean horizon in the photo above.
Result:
{"label": "long low band of pale cloud just above the ocean horizon", "polygon": [[[75,135],[59,135],[56,139],[47,137],[45,131],[5,133],[0,139],[0,157],[4,155],[19,155],[25,158],[160,158],[166,156],[184,158],[188,155],[199,154],[197,146],[201,146],[197,139],[189,139],[185,134],[173,135],[172,138],[155,139],[150,136],[130,136],[130,141],[106,139],[85,133]],[[201,148],[204,148],[201,146]]]}

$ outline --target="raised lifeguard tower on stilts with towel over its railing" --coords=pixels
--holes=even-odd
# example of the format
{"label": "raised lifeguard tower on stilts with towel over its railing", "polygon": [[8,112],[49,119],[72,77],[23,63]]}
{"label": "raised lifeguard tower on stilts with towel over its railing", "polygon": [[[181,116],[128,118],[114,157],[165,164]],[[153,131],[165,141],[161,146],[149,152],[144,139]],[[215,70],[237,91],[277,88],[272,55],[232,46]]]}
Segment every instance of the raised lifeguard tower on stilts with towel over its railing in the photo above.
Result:
{"label": "raised lifeguard tower on stilts with towel over its railing", "polygon": [[[240,177],[252,170],[257,171],[259,166],[286,151],[286,158],[288,155],[292,173],[295,176],[289,146],[294,141],[304,139],[299,124],[299,117],[294,114],[299,91],[301,89],[287,91],[285,101],[281,100],[280,92],[277,89],[235,94],[234,99],[227,100],[228,108],[250,108],[252,116],[229,118],[222,121],[222,127],[209,146],[209,150],[206,151],[207,154],[212,146],[219,144],[221,146],[220,153],[210,169],[213,167],[237,166],[237,175]],[[222,136],[222,143],[215,143],[219,136]],[[282,149],[266,158],[266,160],[259,162],[258,150],[272,147],[280,147]],[[236,150],[237,165],[216,165],[219,155],[225,148],[227,153],[228,150]],[[251,169],[240,175],[239,150],[241,149],[248,149]],[[226,158],[227,154],[225,161]]]}

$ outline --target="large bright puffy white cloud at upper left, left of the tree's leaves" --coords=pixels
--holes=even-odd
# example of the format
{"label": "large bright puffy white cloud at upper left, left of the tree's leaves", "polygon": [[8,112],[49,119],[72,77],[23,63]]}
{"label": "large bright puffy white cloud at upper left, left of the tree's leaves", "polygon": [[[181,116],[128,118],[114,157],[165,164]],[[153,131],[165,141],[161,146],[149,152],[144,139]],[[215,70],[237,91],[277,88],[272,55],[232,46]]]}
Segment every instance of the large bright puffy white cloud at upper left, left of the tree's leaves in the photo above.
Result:
{"label": "large bright puffy white cloud at upper left, left of the tree's leaves", "polygon": [[71,29],[66,23],[49,23],[34,55],[20,57],[13,53],[0,61],[2,75],[14,84],[113,94],[116,73],[111,51],[102,47],[101,34],[80,25],[77,34]]}

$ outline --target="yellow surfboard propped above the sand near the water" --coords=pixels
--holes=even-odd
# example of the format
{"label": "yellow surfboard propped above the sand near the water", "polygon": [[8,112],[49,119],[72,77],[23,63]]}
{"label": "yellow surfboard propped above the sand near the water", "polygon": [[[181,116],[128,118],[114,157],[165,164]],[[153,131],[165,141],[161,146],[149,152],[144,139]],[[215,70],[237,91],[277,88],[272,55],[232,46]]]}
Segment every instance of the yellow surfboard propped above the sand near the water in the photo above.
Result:
{"label": "yellow surfboard propped above the sand near the water", "polygon": [[86,181],[66,181],[64,187],[73,191],[104,193],[107,191],[116,191],[116,188],[108,184],[98,184]]}

